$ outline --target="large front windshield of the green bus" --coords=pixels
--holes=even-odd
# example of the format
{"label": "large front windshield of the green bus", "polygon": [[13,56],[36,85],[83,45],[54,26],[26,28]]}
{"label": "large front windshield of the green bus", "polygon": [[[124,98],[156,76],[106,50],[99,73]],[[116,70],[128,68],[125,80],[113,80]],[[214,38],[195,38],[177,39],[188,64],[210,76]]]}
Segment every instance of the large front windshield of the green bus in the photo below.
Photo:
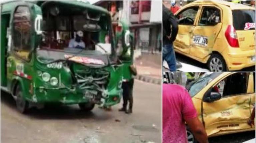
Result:
{"label": "large front windshield of the green bus", "polygon": [[90,64],[109,64],[113,54],[111,21],[108,15],[87,9],[67,11],[62,7],[43,9],[42,40],[37,48],[41,61],[74,57]]}

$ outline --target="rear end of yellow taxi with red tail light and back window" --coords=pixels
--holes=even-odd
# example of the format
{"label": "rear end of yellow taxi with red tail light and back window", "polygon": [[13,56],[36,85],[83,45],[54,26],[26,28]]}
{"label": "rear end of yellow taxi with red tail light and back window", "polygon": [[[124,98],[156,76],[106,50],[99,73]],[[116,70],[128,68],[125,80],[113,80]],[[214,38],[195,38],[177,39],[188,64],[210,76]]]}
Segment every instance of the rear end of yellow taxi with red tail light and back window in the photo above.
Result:
{"label": "rear end of yellow taxi with red tail light and back window", "polygon": [[[220,2],[226,14],[223,19],[223,52],[227,69],[241,70],[255,65],[255,9],[241,4]],[[232,16],[231,16],[232,15]]]}

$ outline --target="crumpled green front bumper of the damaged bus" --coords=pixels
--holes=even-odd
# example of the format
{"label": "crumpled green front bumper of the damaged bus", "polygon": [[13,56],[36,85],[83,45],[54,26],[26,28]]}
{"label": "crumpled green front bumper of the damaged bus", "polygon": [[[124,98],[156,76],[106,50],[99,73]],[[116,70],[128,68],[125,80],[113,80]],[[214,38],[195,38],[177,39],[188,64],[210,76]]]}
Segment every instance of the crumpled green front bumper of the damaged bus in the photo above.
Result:
{"label": "crumpled green front bumper of the damaged bus", "polygon": [[96,102],[93,99],[93,96],[88,96],[88,94],[86,94],[88,93],[86,90],[80,90],[76,88],[68,89],[65,87],[39,87],[34,90],[34,94],[32,95],[32,98],[30,98],[30,101],[35,103],[58,102],[63,104],[94,102],[104,106],[112,106],[120,102],[122,89],[113,88],[112,90],[108,90],[106,92],[107,95],[105,97],[101,97],[100,102]]}

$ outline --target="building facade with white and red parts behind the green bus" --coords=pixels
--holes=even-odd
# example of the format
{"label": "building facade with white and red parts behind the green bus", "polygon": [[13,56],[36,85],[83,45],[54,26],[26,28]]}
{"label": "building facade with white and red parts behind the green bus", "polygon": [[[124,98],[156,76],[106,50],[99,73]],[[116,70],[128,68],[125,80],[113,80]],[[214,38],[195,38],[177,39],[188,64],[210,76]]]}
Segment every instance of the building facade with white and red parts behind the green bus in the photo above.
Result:
{"label": "building facade with white and red parts behind the green bus", "polygon": [[[135,36],[135,49],[161,52],[162,1],[98,1],[95,5],[107,9],[112,21],[126,19]],[[162,12],[161,12],[162,13]]]}

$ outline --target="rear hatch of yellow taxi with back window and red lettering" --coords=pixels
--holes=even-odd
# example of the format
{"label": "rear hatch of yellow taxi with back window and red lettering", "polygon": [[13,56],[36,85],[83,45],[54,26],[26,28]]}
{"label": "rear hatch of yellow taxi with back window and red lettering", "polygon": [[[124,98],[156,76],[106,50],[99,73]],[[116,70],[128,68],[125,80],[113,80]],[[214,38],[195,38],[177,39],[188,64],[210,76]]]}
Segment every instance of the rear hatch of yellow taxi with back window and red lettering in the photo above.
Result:
{"label": "rear hatch of yellow taxi with back window and red lettering", "polygon": [[255,10],[232,10],[233,26],[242,51],[255,48]]}

